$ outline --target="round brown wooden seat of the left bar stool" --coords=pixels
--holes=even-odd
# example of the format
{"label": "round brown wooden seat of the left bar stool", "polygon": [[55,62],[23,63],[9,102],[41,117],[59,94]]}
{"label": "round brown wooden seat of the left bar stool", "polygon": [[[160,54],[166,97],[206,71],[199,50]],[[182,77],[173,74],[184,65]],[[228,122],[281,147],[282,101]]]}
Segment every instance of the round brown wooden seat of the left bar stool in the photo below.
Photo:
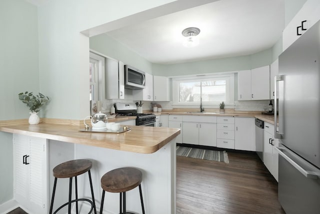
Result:
{"label": "round brown wooden seat of the left bar stool", "polygon": [[53,168],[53,176],[57,178],[74,177],[90,170],[92,162],[90,160],[78,159],[70,160]]}

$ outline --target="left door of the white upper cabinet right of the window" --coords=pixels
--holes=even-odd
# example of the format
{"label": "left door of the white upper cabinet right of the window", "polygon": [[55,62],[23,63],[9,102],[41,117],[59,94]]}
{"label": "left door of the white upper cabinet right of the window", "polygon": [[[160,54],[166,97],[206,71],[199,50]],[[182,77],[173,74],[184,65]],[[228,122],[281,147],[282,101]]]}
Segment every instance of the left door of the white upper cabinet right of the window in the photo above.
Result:
{"label": "left door of the white upper cabinet right of the window", "polygon": [[238,100],[251,100],[251,71],[238,72]]}

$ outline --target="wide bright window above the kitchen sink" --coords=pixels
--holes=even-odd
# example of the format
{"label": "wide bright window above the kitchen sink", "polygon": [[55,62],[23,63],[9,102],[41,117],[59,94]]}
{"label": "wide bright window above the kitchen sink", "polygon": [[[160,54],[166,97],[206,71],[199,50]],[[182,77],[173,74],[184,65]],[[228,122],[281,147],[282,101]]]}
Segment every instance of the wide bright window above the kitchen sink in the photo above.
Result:
{"label": "wide bright window above the kitchen sink", "polygon": [[233,74],[172,79],[173,105],[234,103]]}

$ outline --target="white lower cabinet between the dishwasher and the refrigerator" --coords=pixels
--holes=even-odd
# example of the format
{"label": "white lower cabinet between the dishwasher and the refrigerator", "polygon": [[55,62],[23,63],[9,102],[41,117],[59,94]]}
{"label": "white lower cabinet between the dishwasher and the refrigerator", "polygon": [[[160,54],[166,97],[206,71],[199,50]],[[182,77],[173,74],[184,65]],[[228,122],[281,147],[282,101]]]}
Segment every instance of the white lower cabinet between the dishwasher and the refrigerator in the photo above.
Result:
{"label": "white lower cabinet between the dishwasher and the refrigerator", "polygon": [[274,126],[264,122],[263,163],[273,177],[278,180],[278,153],[274,147],[278,146],[278,139],[273,136]]}

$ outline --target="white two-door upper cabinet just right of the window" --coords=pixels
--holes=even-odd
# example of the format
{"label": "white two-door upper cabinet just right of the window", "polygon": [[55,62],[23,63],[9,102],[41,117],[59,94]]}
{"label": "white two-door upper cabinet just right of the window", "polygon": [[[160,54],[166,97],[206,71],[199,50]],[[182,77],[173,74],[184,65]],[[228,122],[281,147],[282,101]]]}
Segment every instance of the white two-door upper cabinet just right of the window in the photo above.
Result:
{"label": "white two-door upper cabinet just right of the window", "polygon": [[270,99],[270,66],[238,72],[238,100]]}

